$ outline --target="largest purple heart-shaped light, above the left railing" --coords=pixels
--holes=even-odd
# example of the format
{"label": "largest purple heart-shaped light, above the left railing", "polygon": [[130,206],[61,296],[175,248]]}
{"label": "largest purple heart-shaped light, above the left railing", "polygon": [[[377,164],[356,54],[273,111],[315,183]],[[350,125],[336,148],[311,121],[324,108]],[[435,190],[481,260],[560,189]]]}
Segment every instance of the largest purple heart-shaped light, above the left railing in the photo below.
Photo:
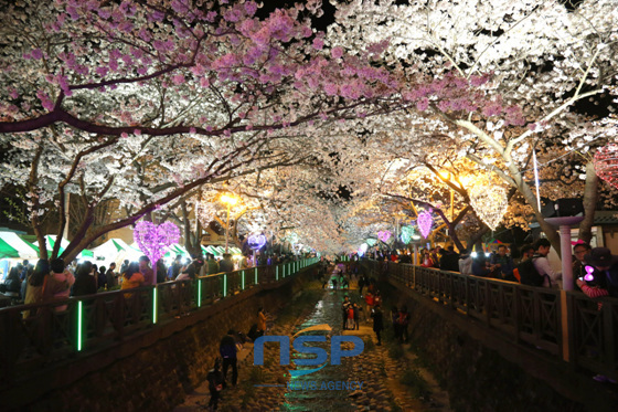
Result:
{"label": "largest purple heart-shaped light, above the left railing", "polygon": [[152,222],[142,220],[136,223],[134,239],[143,254],[150,258],[152,266],[154,266],[157,261],[166,254],[166,249],[179,241],[180,230],[172,222],[156,225]]}

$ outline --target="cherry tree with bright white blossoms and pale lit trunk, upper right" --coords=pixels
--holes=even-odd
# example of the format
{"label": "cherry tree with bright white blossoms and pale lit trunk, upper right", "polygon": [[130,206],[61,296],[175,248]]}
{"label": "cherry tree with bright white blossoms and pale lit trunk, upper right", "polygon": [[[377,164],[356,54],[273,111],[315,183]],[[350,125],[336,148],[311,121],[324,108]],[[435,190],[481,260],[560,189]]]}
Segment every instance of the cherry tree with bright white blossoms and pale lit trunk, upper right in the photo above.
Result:
{"label": "cherry tree with bright white blossoms and pale lit trunk, upper right", "polygon": [[[328,41],[360,50],[364,42],[388,40],[384,63],[399,67],[411,78],[418,73],[441,76],[447,71],[470,81],[489,76],[482,91],[496,97],[494,106],[462,113],[452,102],[447,105],[427,98],[418,101],[417,109],[424,118],[439,123],[444,144],[457,147],[458,156],[515,188],[557,245],[557,233],[543,219],[531,184],[531,150],[546,139],[575,139],[574,134],[579,134],[579,140],[562,144],[563,150],[589,149],[582,137],[596,131],[582,127],[589,122],[576,106],[588,98],[609,94],[611,102],[616,96],[611,97],[617,82],[615,6],[608,0],[576,6],[560,1],[431,0],[398,4],[356,0],[338,4],[337,24],[329,30]],[[511,107],[505,115],[493,112],[504,105]],[[436,127],[426,127],[418,115],[409,113],[408,119],[415,124],[413,138],[435,135]],[[595,126],[597,130],[601,127]],[[606,127],[601,133],[610,131]],[[587,170],[583,173],[586,232],[596,205],[589,198],[597,190],[590,163],[583,165]]]}

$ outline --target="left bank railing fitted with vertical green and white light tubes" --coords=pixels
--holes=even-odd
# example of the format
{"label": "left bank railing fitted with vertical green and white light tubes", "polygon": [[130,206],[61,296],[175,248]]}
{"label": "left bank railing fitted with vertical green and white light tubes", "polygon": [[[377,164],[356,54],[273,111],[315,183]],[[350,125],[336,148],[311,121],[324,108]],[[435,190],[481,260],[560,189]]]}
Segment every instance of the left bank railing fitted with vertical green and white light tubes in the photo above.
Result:
{"label": "left bank railing fitted with vertical green and white light tubes", "polygon": [[138,288],[0,308],[0,382],[83,351],[97,351],[256,285],[271,284],[318,257]]}

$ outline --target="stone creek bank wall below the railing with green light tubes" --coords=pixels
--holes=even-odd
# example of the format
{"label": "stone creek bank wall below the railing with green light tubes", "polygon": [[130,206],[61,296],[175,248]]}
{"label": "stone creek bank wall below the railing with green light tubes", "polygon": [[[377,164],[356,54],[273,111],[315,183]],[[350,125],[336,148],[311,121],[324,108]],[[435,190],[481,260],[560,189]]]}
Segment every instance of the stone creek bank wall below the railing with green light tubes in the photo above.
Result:
{"label": "stone creek bank wall below the railing with green light tubes", "polygon": [[[170,411],[205,380],[230,328],[247,332],[257,308],[285,307],[317,267],[254,287],[96,353],[0,388],[2,411]],[[239,371],[242,373],[242,371]]]}

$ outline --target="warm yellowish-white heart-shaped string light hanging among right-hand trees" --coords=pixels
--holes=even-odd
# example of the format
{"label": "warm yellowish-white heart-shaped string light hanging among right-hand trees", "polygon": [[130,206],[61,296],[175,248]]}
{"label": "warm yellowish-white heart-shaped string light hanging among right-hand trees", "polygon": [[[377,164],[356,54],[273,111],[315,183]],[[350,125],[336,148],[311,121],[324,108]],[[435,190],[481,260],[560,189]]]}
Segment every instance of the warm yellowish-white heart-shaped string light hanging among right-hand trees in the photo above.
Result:
{"label": "warm yellowish-white heart-shaped string light hanging among right-hand trees", "polygon": [[492,231],[504,218],[509,209],[509,198],[507,191],[492,184],[489,178],[481,178],[469,191],[470,204],[479,218]]}

